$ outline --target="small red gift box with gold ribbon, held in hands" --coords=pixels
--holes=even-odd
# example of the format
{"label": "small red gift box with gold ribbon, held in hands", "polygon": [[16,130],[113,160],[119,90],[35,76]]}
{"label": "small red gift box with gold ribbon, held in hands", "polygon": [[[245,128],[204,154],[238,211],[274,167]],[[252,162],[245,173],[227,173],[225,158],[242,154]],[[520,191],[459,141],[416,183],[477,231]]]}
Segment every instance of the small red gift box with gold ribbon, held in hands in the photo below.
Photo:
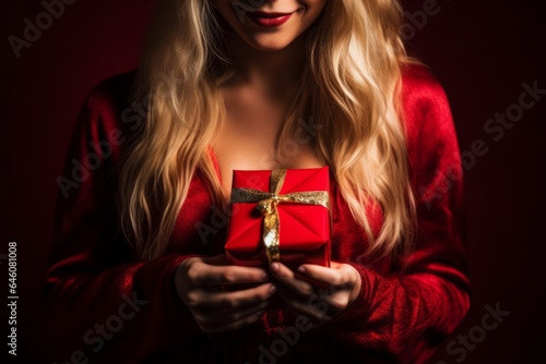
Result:
{"label": "small red gift box with gold ribbon, held in hands", "polygon": [[329,169],[234,171],[225,245],[230,264],[330,267]]}

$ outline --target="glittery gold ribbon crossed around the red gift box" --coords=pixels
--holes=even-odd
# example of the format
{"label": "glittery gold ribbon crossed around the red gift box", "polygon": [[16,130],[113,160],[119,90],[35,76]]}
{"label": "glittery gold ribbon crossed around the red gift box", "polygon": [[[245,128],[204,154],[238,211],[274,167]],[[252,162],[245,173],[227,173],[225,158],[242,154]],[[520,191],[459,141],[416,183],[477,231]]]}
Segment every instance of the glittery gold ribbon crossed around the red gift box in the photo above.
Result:
{"label": "glittery gold ribbon crossed around the red gift box", "polygon": [[277,205],[280,203],[297,203],[320,205],[330,209],[328,191],[304,191],[281,195],[286,179],[286,169],[271,171],[270,192],[238,187],[232,191],[232,203],[258,203],[258,210],[263,215],[263,243],[268,260],[278,262],[281,258],[278,239],[281,222]]}

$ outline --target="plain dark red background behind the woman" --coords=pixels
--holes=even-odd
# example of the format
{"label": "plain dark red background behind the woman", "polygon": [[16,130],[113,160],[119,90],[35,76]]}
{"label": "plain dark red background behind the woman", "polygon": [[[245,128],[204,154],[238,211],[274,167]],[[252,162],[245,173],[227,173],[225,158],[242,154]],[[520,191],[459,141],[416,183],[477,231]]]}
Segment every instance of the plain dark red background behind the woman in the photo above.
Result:
{"label": "plain dark red background behind the woman", "polygon": [[[7,254],[10,241],[17,242],[20,360],[55,361],[40,324],[40,290],[51,244],[56,177],[78,111],[96,83],[136,65],[154,3],[76,1],[20,59],[7,38],[22,36],[23,20],[34,20],[44,8],[38,0],[0,5],[7,86],[0,95],[0,155],[7,170],[1,178],[0,254]],[[404,3],[415,12],[425,0]],[[539,0],[438,0],[438,5],[441,10],[417,29],[410,49],[443,84],[461,150],[483,139],[488,153],[465,171],[473,307],[430,363],[456,363],[461,357],[449,354],[447,344],[480,325],[484,305],[497,302],[511,314],[467,351],[464,363],[544,360],[546,181],[541,169],[546,167],[546,95],[499,142],[484,132],[484,124],[518,102],[522,83],[538,81],[546,88],[546,32],[541,24],[546,12]],[[0,262],[4,287],[7,264]],[[1,347],[7,351],[5,343]]]}

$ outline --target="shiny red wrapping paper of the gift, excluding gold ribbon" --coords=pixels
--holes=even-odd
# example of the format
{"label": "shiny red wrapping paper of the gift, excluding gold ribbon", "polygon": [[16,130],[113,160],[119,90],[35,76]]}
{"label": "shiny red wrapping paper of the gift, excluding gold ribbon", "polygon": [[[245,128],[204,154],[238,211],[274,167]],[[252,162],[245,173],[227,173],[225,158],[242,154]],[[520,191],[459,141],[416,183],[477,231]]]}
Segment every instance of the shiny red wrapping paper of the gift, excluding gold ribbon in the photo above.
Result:
{"label": "shiny red wrapping paper of the gift, excluding gold ribbon", "polygon": [[[270,192],[271,171],[234,171],[233,189]],[[328,167],[288,169],[280,195],[295,192],[325,191],[330,193]],[[230,264],[268,267],[262,240],[264,219],[258,202],[232,203],[225,245]],[[280,216],[280,262],[292,269],[301,264],[330,267],[331,218],[324,206],[282,202]]]}

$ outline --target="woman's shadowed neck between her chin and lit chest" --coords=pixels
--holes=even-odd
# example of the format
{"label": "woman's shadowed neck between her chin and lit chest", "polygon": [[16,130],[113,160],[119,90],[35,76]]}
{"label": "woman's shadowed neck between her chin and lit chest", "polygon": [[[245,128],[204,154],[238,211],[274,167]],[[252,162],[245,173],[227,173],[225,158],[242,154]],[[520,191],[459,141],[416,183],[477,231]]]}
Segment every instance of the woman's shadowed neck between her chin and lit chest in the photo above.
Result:
{"label": "woman's shadowed neck between her chin and lit chest", "polygon": [[304,37],[277,51],[252,48],[235,34],[227,41],[235,68],[229,84],[245,85],[270,96],[286,95],[294,89],[306,64]]}

